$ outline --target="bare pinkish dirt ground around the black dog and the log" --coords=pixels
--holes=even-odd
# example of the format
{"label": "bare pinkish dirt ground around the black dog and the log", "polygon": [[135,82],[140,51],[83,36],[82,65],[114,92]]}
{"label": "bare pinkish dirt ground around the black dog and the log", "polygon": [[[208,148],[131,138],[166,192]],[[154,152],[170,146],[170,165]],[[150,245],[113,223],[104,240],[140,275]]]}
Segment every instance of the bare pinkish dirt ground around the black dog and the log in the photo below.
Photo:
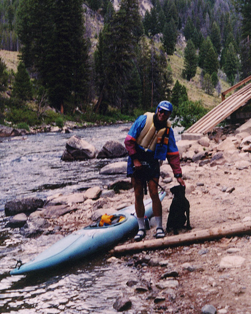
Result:
{"label": "bare pinkish dirt ground around the black dog and the log", "polygon": [[[192,169],[194,169],[194,163]],[[185,166],[186,169],[187,166]],[[249,220],[250,213],[250,169],[237,170],[234,166],[216,167],[196,165],[195,170],[184,173],[187,185],[195,190],[186,194],[190,202],[190,222],[193,231],[220,226],[230,226]],[[165,185],[167,191],[176,184]],[[223,192],[222,189],[234,190]],[[128,193],[128,192],[127,192]],[[128,200],[128,195],[127,195]],[[163,200],[163,226],[172,202],[172,194]],[[251,219],[251,218],[250,218]],[[189,231],[179,231],[184,233]],[[154,239],[155,228],[148,231],[146,239]],[[172,233],[166,235],[173,235]],[[133,242],[129,240],[127,243]],[[217,313],[251,314],[251,238],[249,235],[223,237],[218,240],[177,246],[163,250],[142,253],[139,256],[168,259],[178,272],[178,287],[174,300],[166,298],[157,303],[155,313],[197,314],[206,304],[211,304]],[[226,256],[244,258],[238,267],[221,268],[220,262]],[[124,257],[129,260],[129,255]],[[184,264],[189,263],[189,264]],[[144,268],[145,267],[145,268]],[[150,272],[154,283],[166,271],[166,267],[140,267]]]}

